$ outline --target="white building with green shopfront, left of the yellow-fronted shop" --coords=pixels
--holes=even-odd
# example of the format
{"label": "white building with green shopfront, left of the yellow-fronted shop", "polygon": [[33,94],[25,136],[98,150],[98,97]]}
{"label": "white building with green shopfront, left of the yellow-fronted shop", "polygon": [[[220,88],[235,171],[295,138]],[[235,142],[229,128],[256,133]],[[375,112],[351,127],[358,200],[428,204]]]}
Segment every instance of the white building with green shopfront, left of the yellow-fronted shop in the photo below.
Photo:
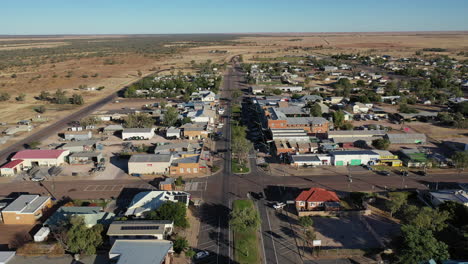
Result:
{"label": "white building with green shopfront, left of the yellow-fronted shop", "polygon": [[332,164],[335,166],[360,166],[377,162],[380,155],[370,150],[333,151]]}

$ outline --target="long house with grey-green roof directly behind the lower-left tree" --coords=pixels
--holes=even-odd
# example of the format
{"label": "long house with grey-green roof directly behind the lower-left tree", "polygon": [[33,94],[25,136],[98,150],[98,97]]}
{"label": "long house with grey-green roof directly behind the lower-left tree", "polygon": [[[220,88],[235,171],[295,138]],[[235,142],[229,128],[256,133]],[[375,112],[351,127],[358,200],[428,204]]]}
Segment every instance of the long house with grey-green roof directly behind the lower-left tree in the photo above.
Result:
{"label": "long house with grey-green roof directly behind the lower-left tree", "polygon": [[82,217],[86,227],[91,228],[97,224],[110,224],[115,214],[104,212],[100,206],[62,206],[43,225],[56,227],[74,216]]}

